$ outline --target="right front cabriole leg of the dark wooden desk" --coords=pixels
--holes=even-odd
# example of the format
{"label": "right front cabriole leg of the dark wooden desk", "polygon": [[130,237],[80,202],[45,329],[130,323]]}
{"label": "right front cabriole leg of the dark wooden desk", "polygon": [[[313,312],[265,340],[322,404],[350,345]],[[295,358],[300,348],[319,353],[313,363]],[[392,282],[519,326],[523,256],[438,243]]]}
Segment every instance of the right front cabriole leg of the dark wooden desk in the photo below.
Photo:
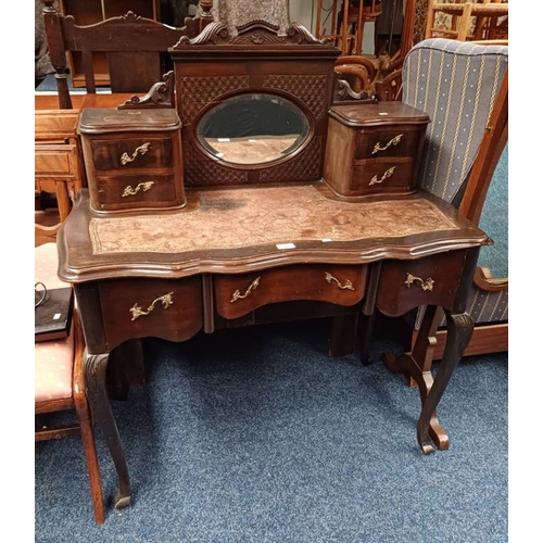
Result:
{"label": "right front cabriole leg of the dark wooden desk", "polygon": [[[422,411],[420,412],[417,424],[417,439],[425,454],[433,452],[433,446],[430,443],[430,430],[432,428],[432,419],[435,417],[435,408],[445,392],[446,386],[473,331],[473,319],[467,313],[452,315],[450,312],[445,311],[445,315],[447,324],[445,352],[440,363],[438,374],[435,375],[434,382],[427,394],[426,401],[422,403]],[[434,439],[438,447],[440,447],[439,438],[438,435],[438,439]]]}

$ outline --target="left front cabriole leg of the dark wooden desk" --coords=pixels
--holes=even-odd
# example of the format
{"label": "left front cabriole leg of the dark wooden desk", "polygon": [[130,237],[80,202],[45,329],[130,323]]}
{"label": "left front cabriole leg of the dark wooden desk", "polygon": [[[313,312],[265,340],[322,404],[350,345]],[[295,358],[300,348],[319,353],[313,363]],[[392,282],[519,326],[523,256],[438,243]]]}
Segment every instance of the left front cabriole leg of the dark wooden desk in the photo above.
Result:
{"label": "left front cabriole leg of the dark wooden desk", "polygon": [[85,352],[84,379],[94,421],[103,433],[105,444],[117,471],[119,490],[115,495],[114,504],[115,508],[121,508],[130,505],[130,481],[123,444],[121,443],[105,387],[108,359],[108,354],[88,354]]}

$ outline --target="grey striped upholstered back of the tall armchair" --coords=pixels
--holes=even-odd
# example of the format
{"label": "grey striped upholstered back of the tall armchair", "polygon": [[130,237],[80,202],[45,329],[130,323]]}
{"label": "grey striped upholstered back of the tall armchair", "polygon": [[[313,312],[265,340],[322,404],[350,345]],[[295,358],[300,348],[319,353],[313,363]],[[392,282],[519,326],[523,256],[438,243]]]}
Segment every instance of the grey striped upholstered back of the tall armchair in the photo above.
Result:
{"label": "grey striped upholstered back of the tall armchair", "polygon": [[[418,187],[460,204],[483,138],[492,128],[489,119],[502,84],[507,84],[507,46],[444,38],[420,41],[407,53],[402,101],[430,116]],[[506,113],[507,101],[500,106]],[[506,130],[506,124],[502,128]],[[498,144],[503,150],[503,138]]]}

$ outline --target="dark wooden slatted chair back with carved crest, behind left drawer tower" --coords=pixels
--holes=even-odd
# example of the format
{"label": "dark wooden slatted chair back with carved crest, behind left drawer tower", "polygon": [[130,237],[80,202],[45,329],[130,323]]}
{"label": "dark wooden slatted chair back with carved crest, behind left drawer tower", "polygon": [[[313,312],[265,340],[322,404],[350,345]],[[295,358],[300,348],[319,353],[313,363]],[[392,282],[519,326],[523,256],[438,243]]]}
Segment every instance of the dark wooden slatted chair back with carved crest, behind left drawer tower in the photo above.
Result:
{"label": "dark wooden slatted chair back with carved crest, behind left drawer tower", "polygon": [[167,50],[182,36],[198,36],[213,21],[213,2],[200,2],[202,15],[188,17],[174,28],[132,12],[93,25],[79,26],[72,15],[55,10],[54,0],[42,0],[43,25],[51,64],[54,67],[60,109],[72,109],[66,54],[80,53],[85,88],[96,93],[93,53],[108,53],[112,93],[147,92],[167,72]]}

